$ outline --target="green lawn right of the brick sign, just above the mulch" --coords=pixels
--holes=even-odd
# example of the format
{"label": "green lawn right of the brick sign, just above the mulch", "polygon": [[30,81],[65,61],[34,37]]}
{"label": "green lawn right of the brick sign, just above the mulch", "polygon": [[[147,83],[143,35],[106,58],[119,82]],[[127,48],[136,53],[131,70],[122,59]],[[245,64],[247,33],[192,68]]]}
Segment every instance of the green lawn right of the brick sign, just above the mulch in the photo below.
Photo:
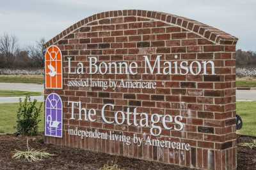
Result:
{"label": "green lawn right of the brick sign, just above the mulch", "polygon": [[256,102],[237,102],[237,114],[243,120],[243,127],[239,134],[256,136]]}

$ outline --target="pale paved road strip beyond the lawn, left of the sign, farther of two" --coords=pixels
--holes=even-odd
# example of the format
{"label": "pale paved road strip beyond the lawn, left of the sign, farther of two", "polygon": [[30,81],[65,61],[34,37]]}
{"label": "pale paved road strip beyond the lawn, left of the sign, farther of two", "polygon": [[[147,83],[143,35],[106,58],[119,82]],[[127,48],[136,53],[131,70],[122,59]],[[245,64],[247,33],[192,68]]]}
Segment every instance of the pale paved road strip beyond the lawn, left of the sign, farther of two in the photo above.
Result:
{"label": "pale paved road strip beyond the lawn, left of the sign, farther of two", "polygon": [[0,83],[0,90],[43,92],[44,85],[38,85],[38,84],[32,84],[32,83]]}

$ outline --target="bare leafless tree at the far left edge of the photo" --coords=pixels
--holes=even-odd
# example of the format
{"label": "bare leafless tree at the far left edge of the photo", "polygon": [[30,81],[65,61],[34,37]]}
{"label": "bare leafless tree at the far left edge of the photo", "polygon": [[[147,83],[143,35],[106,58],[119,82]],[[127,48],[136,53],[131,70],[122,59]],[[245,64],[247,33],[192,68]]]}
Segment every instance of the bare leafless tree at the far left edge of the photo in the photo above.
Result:
{"label": "bare leafless tree at the far left edge of the photo", "polygon": [[6,67],[12,67],[15,60],[15,52],[18,48],[16,36],[9,36],[4,33],[0,37],[0,52],[6,61]]}

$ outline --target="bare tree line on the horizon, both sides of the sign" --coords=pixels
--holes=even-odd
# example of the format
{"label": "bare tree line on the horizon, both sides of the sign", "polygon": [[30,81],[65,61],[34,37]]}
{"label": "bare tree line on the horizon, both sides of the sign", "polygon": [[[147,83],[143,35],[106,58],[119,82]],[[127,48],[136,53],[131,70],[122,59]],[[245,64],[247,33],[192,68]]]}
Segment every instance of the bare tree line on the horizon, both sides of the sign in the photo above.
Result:
{"label": "bare tree line on the horizon, both sides of the sign", "polygon": [[[41,38],[34,45],[19,48],[17,37],[4,33],[0,36],[0,68],[44,67],[44,44]],[[237,50],[236,66],[256,66],[256,52]]]}

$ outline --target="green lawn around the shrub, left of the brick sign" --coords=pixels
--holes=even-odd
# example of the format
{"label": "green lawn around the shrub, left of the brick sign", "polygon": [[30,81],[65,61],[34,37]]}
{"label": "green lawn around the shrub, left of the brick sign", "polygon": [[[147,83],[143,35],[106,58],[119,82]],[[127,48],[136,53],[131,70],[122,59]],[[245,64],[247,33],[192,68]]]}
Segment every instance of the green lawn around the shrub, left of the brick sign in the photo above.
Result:
{"label": "green lawn around the shrub, left of the brick sign", "polygon": [[[40,103],[37,104],[39,106]],[[4,103],[0,104],[0,133],[14,133],[13,126],[16,125],[17,110],[19,103]],[[44,131],[44,107],[40,115],[39,131]]]}

